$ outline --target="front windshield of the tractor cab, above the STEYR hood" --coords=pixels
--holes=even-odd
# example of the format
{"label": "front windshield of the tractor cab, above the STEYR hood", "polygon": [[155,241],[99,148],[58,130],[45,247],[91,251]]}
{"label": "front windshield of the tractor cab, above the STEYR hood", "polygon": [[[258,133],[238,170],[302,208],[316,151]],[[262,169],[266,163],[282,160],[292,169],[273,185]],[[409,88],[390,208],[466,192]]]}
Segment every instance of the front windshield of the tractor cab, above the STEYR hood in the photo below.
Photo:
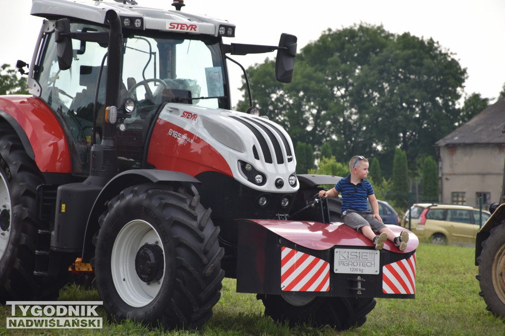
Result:
{"label": "front windshield of the tractor cab, above the STEYR hood", "polygon": [[[178,101],[224,107],[226,83],[218,39],[131,35],[124,39],[123,52],[123,81],[141,105]],[[199,97],[205,99],[194,99]]]}

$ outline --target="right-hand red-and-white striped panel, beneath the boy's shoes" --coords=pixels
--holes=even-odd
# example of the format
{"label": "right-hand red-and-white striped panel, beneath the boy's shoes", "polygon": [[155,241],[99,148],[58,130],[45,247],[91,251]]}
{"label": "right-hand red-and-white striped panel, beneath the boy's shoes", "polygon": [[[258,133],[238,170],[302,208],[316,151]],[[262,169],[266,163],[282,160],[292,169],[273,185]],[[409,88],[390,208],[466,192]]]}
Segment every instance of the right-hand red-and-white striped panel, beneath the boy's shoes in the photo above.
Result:
{"label": "right-hand red-and-white striped panel, beneath the boy's shoes", "polygon": [[416,293],[416,254],[382,267],[382,291],[386,294]]}

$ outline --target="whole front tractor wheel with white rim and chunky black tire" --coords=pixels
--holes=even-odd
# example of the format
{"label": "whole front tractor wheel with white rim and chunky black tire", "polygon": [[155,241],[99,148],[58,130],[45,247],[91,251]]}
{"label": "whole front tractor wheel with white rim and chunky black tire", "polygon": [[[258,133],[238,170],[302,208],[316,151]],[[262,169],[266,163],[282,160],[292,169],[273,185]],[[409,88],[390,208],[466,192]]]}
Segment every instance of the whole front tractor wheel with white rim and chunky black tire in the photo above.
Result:
{"label": "whole front tractor wheel with white rim and chunky black tire", "polygon": [[224,271],[219,227],[183,187],[142,184],[114,197],[93,239],[96,287],[114,320],[195,328],[212,316]]}

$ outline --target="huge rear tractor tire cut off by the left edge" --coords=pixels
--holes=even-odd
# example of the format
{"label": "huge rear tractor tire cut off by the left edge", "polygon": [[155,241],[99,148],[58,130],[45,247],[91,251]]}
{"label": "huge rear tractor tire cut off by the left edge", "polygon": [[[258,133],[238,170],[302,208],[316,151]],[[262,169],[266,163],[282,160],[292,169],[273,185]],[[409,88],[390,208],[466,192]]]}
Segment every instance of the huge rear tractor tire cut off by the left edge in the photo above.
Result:
{"label": "huge rear tractor tire cut off by the left edge", "polygon": [[[0,125],[0,301],[54,300],[59,279],[33,275],[43,224],[35,192],[43,178],[13,129]],[[47,229],[47,228],[45,228]]]}

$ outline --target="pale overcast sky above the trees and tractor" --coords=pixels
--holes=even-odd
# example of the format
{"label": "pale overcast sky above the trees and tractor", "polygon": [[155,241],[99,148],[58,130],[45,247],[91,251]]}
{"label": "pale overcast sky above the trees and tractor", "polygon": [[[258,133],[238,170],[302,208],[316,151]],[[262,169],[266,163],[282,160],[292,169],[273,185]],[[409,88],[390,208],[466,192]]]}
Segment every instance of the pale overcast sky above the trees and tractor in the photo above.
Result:
{"label": "pale overcast sky above the trees and tractor", "polygon": [[[172,0],[136,0],[144,6],[173,9]],[[277,45],[281,33],[298,37],[298,50],[317,40],[327,28],[353,24],[382,24],[392,33],[433,38],[448,49],[468,80],[465,92],[480,93],[494,102],[505,83],[505,1],[503,0],[186,0],[183,12],[207,14],[236,24],[235,38],[225,43]],[[31,61],[41,18],[30,16],[31,1],[2,1],[0,64]],[[263,55],[234,56],[245,67],[262,62]],[[295,63],[296,71],[296,63]],[[231,73],[231,85],[240,86],[240,73]],[[253,94],[255,94],[253,92]],[[258,92],[256,94],[259,94]],[[232,97],[241,99],[238,91]]]}

